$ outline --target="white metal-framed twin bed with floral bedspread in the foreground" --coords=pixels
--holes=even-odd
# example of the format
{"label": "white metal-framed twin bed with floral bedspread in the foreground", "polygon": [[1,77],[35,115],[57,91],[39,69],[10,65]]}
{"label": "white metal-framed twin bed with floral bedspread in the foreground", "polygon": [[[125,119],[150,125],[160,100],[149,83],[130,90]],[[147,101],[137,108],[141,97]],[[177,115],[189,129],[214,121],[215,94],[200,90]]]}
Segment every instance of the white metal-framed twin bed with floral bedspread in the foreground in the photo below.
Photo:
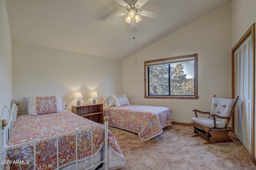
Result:
{"label": "white metal-framed twin bed with floral bedspread in the foreground", "polygon": [[[52,99],[47,102],[49,106]],[[40,113],[38,104],[36,107]],[[52,108],[41,105],[40,109]],[[56,105],[53,110],[56,111]],[[125,165],[118,143],[108,130],[107,117],[104,125],[100,125],[67,110],[33,116],[24,114],[17,119],[16,113],[17,107],[13,104],[8,124],[0,126],[0,170],[94,170],[103,163],[105,169]]]}

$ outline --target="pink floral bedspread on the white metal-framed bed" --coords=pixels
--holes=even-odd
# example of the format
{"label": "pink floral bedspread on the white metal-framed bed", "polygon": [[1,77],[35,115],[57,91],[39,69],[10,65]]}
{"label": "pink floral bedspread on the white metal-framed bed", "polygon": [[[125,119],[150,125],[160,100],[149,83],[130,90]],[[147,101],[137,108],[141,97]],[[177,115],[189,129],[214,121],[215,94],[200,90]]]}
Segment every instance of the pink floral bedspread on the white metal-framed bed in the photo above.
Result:
{"label": "pink floral bedspread on the white metal-framed bed", "polygon": [[[70,111],[50,113],[44,115],[20,115],[15,122],[13,132],[8,140],[8,146],[28,142],[35,138],[46,138],[54,134],[64,134],[77,129],[84,129],[100,124],[84,119]],[[89,130],[78,134],[78,160],[91,155],[91,133]],[[104,145],[104,127],[93,130],[93,154],[99,152]],[[123,158],[122,152],[112,132],[108,131],[108,146],[115,154]],[[59,166],[74,162],[75,134],[68,134],[59,139]],[[22,145],[7,150],[9,160],[28,160],[29,164],[10,164],[10,169],[32,170],[34,169],[33,146]],[[118,160],[120,161],[120,160]],[[56,139],[43,140],[36,144],[36,168],[52,170],[57,168]]]}

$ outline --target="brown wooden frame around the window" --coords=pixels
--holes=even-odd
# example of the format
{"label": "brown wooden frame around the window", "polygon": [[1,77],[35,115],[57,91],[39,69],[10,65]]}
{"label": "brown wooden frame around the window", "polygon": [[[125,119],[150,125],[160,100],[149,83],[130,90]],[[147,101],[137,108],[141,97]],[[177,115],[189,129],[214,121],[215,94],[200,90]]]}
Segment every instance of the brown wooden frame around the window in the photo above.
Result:
{"label": "brown wooden frame around the window", "polygon": [[[147,63],[159,62],[159,61],[166,61],[166,60],[173,60],[173,59],[184,59],[188,57],[195,58],[195,65],[194,65],[194,80],[195,80],[195,95],[194,96],[149,96],[147,94],[147,73],[146,73],[146,65]],[[198,99],[198,54],[190,54],[190,55],[182,55],[177,57],[169,57],[164,59],[154,59],[149,61],[144,61],[144,98],[145,99]]]}

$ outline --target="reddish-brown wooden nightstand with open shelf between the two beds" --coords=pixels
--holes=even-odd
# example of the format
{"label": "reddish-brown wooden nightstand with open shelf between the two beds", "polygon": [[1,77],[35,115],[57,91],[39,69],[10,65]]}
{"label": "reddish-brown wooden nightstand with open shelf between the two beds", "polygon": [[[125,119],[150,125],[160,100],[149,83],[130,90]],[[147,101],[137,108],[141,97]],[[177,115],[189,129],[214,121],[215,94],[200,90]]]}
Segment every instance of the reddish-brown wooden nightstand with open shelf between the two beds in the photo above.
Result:
{"label": "reddish-brown wooden nightstand with open shelf between the two beds", "polygon": [[102,103],[72,106],[72,112],[94,122],[104,123]]}

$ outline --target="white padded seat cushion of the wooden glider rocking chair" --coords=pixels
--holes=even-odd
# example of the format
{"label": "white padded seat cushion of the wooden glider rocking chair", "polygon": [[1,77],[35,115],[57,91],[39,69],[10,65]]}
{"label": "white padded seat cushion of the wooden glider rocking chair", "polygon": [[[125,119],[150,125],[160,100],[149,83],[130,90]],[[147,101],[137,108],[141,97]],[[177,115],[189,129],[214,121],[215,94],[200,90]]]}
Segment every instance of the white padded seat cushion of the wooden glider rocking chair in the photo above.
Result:
{"label": "white padded seat cushion of the wooden glider rocking chair", "polygon": [[[204,118],[204,117],[192,117],[191,121],[198,124],[198,125],[202,125],[204,127],[207,128],[214,128],[214,124],[213,124],[213,119],[209,119],[209,118]],[[217,128],[225,128],[225,124],[223,122],[220,121],[216,121],[216,127]]]}

